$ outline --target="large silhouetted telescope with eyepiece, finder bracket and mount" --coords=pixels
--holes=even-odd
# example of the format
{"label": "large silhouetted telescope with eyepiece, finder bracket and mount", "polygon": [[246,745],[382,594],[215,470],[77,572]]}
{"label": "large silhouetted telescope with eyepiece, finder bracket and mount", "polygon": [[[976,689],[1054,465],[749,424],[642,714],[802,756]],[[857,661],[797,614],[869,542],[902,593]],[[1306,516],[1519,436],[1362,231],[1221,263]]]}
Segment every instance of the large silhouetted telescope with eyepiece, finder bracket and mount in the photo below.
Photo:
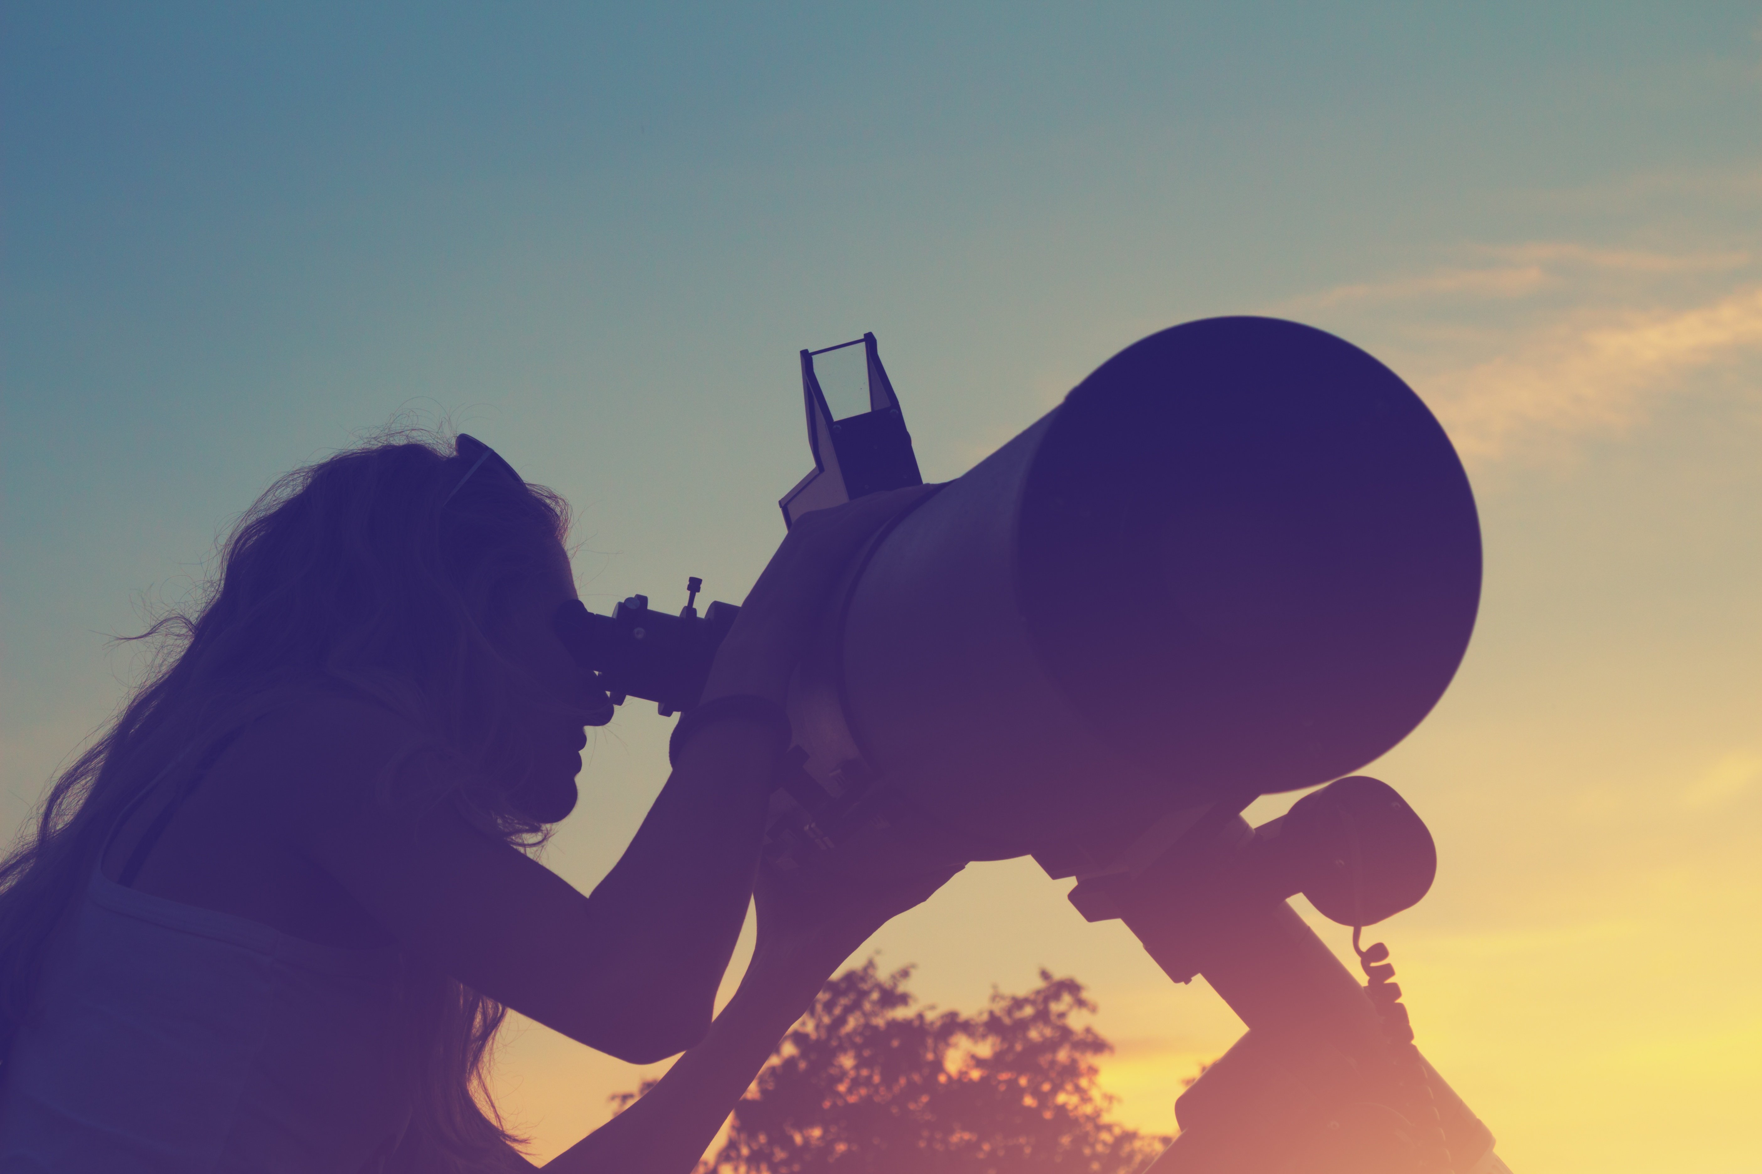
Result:
{"label": "large silhouetted telescope with eyepiece, finder bracket and mount", "polygon": [[[922,484],[874,334],[803,350],[802,514]],[[615,701],[696,702],[738,609],[631,597],[557,627]],[[1436,855],[1355,774],[1443,695],[1480,598],[1468,475],[1364,350],[1260,317],[1133,343],[876,533],[798,667],[766,854],[900,829],[948,859],[1033,855],[1247,1033],[1177,1102],[1156,1174],[1496,1174],[1413,1046],[1387,950],[1360,984],[1286,903],[1359,931]],[[1263,794],[1316,789],[1262,827]]]}

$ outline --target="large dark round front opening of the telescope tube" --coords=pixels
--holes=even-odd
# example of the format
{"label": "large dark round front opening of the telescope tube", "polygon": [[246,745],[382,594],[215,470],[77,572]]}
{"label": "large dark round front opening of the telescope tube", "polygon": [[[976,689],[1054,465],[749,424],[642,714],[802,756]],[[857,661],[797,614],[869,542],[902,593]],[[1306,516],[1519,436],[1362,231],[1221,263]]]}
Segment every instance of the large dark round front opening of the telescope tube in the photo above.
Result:
{"label": "large dark round front opening of the telescope tube", "polygon": [[1098,368],[1034,458],[1018,540],[1071,708],[1193,797],[1387,753],[1480,598],[1443,428],[1366,352],[1277,319],[1191,322]]}

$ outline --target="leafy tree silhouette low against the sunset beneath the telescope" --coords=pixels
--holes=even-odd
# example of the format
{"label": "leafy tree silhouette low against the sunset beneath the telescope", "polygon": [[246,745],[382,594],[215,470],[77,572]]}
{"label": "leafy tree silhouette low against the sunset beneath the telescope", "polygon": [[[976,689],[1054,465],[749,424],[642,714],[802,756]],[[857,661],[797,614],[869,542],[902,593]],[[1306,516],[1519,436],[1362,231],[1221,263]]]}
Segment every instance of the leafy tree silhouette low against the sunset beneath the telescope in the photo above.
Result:
{"label": "leafy tree silhouette low against the sunset beneath the telescope", "polygon": [[[1070,1023],[1075,979],[1040,972],[976,1016],[916,1009],[911,968],[874,959],[819,993],[737,1105],[715,1174],[1129,1174],[1161,1153],[1107,1119],[1094,1060]],[[620,1098],[620,1100],[629,1100]]]}

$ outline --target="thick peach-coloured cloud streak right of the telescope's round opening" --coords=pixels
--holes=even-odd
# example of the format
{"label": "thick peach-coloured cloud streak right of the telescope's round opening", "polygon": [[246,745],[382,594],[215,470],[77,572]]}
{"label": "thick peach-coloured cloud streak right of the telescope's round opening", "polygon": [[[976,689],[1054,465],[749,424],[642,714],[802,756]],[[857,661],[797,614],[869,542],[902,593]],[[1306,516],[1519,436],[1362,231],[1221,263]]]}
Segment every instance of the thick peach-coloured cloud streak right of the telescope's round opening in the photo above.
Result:
{"label": "thick peach-coloured cloud streak right of the telescope's round opening", "polygon": [[1686,310],[1591,310],[1417,380],[1468,461],[1619,433],[1692,375],[1762,354],[1762,285]]}

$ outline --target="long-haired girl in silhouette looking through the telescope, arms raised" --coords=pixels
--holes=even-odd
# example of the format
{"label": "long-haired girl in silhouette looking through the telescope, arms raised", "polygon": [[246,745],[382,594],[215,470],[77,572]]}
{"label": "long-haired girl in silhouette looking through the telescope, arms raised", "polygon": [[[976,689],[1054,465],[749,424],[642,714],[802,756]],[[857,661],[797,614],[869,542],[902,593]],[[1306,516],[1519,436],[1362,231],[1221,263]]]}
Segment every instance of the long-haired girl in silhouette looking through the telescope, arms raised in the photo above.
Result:
{"label": "long-haired girl in silhouette looking through the telescope, arms raised", "polygon": [[758,875],[789,672],[911,493],[791,530],[583,896],[529,852],[613,713],[552,630],[564,502],[469,437],[280,479],[0,864],[0,1169],[532,1169],[479,1075],[513,1007],[634,1063],[691,1049],[546,1169],[691,1170],[826,975],[950,873]]}

